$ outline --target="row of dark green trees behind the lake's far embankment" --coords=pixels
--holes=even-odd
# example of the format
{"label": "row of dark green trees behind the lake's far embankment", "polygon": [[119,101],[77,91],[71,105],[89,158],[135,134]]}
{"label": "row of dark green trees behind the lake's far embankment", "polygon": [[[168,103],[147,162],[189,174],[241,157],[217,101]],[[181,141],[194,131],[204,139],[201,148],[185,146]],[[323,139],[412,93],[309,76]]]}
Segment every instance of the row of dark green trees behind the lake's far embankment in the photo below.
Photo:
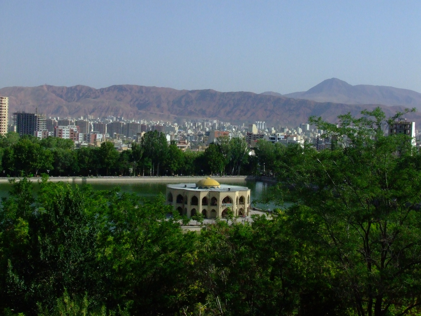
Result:
{"label": "row of dark green trees behind the lake's far embankment", "polygon": [[70,139],[37,139],[8,133],[0,137],[0,174],[16,176],[160,176],[240,175],[256,171],[256,158],[249,157],[244,139],[228,137],[203,152],[167,144],[163,133],[150,131],[129,150],[118,152],[112,142],[101,147],[74,148]]}

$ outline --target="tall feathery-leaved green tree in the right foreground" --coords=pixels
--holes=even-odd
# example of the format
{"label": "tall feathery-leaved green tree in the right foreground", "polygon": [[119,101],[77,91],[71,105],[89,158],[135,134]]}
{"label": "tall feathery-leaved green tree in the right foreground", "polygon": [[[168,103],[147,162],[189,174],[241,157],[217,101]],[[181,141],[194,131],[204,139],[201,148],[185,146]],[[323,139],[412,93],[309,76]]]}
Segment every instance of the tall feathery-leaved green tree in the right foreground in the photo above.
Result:
{"label": "tall feathery-leaved green tree in the right foreground", "polygon": [[[311,246],[328,279],[358,315],[403,315],[421,305],[421,155],[405,135],[384,136],[380,108],[339,125],[312,118],[333,150],[286,157],[282,195],[291,233]],[[342,146],[340,146],[342,145]]]}

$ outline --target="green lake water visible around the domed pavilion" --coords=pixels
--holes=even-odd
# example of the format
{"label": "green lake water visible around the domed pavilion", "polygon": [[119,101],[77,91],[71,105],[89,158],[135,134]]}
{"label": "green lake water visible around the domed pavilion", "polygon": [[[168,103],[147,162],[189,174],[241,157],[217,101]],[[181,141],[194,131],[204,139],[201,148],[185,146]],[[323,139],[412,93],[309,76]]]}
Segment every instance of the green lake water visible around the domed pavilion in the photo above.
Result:
{"label": "green lake water visible around the domed pavilion", "polygon": [[[224,183],[224,182],[222,182]],[[246,181],[238,181],[238,182],[226,182],[226,184],[233,184],[233,185],[242,185],[245,187],[250,188],[250,199],[252,202],[252,206],[258,207],[259,209],[273,209],[275,206],[273,204],[261,204],[258,202],[253,202],[264,198],[264,196],[268,193],[269,188],[273,185],[272,183],[261,182],[261,181],[254,181],[254,180],[246,180]],[[111,190],[113,187],[120,187],[120,192],[127,192],[127,193],[136,193],[141,198],[153,198],[157,196],[159,193],[163,193],[165,195],[165,188],[166,184],[164,183],[91,183],[90,184],[93,190]],[[73,185],[75,186],[75,185]],[[11,184],[9,183],[0,183],[0,198],[7,197],[8,191],[11,188]],[[38,184],[34,184],[34,192],[37,193]]]}

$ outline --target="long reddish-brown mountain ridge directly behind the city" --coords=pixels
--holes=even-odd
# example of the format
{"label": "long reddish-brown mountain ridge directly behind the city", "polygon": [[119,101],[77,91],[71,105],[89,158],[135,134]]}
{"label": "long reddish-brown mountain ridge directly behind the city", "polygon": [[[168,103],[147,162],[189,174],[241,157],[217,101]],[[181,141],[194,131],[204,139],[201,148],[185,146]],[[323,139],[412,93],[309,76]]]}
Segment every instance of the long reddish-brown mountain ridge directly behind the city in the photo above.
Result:
{"label": "long reddish-brown mountain ridge directly behind the city", "polygon": [[[133,85],[116,85],[95,89],[88,86],[6,87],[0,95],[9,96],[10,113],[26,111],[48,116],[107,115],[175,121],[180,118],[209,118],[235,123],[266,121],[269,124],[296,126],[310,115],[335,121],[337,115],[354,115],[376,105],[350,105],[314,102],[286,96],[252,92],[218,92],[214,90],[176,90]],[[386,115],[404,107],[381,106]],[[421,115],[410,113],[408,120],[421,123]]]}

